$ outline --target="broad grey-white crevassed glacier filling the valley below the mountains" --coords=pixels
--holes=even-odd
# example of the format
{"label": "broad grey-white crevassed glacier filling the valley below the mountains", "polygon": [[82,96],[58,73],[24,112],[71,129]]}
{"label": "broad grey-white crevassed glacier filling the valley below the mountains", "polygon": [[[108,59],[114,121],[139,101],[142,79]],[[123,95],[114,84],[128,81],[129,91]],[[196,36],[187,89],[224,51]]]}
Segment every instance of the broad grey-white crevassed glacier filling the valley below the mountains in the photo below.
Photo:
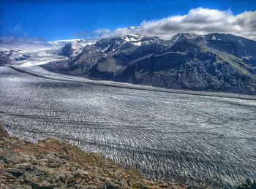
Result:
{"label": "broad grey-white crevassed glacier filling the valley below the mountains", "polygon": [[157,180],[233,188],[256,179],[254,97],[135,89],[29,70],[0,67],[0,121],[12,136],[58,137]]}

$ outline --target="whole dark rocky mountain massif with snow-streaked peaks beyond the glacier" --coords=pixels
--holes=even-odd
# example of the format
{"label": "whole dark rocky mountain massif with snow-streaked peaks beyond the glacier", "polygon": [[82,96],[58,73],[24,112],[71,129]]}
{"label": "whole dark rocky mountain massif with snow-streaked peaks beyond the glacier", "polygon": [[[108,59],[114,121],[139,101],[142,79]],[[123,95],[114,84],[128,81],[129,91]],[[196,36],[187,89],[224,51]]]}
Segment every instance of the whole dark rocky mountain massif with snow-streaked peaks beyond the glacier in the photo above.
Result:
{"label": "whole dark rocky mountain massif with snow-streaked peaks beyond the glacier", "polygon": [[256,93],[256,42],[231,34],[115,36],[45,68],[162,88]]}

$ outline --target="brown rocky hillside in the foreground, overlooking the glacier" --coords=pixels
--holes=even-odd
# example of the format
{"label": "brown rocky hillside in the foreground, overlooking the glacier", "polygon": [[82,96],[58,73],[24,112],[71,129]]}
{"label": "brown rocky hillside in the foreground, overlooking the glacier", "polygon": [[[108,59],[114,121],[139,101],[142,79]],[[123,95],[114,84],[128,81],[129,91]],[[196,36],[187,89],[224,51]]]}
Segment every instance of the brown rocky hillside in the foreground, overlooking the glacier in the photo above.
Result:
{"label": "brown rocky hillside in the foreground, overlooking the glacier", "polygon": [[146,180],[59,139],[32,144],[10,137],[2,126],[0,136],[0,188],[186,188]]}

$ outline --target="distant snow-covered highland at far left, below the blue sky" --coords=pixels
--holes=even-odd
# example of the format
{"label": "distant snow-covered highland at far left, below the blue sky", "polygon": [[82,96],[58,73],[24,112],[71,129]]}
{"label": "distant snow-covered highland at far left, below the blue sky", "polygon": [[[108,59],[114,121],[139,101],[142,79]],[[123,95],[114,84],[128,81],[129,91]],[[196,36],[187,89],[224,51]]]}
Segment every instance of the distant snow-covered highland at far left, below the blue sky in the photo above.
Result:
{"label": "distant snow-covered highland at far left, below the blue sky", "polygon": [[[63,59],[75,57],[83,51],[86,45],[91,45],[95,39],[67,39],[50,42],[35,42],[31,44],[5,44],[0,50],[1,65],[17,61],[41,59]],[[11,47],[12,49],[7,49]],[[61,57],[64,56],[64,57]]]}

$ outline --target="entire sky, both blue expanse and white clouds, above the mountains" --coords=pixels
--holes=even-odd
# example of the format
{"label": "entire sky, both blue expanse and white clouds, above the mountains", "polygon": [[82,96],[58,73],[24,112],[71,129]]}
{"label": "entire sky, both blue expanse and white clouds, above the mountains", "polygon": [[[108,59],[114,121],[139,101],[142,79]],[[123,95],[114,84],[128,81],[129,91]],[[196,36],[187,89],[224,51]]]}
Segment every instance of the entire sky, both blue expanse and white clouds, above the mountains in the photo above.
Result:
{"label": "entire sky, both blue expanse and white clouds, above the mountains", "polygon": [[255,0],[0,0],[1,38],[50,41],[147,34],[170,39],[178,32],[225,32],[256,40],[254,30]]}

